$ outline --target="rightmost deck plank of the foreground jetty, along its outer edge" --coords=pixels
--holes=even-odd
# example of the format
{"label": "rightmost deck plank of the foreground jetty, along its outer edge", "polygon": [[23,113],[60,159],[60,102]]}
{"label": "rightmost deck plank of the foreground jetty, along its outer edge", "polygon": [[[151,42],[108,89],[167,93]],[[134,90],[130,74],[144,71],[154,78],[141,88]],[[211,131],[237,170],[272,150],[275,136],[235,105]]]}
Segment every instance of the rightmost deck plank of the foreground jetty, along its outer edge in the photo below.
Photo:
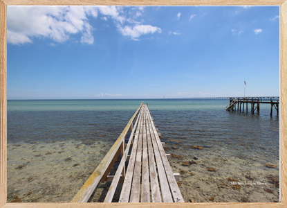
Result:
{"label": "rightmost deck plank of the foreground jetty, along its outer edge", "polygon": [[[151,114],[149,113],[149,118],[151,121]],[[176,180],[174,178],[174,173],[172,172],[172,168],[169,165],[167,156],[165,155],[165,150],[163,149],[163,146],[160,142],[160,138],[158,137],[158,134],[156,132],[156,128],[154,127],[154,122],[151,121],[151,127],[154,130],[154,135],[156,137],[156,143],[158,144],[158,150],[160,151],[160,156],[163,159],[163,165],[165,167],[165,173],[167,174],[167,180],[169,182],[169,187],[172,192],[172,196],[174,198],[174,202],[184,202],[183,196],[181,196],[180,190],[178,188],[178,184],[176,183]],[[160,175],[160,173],[158,173]],[[161,187],[161,183],[160,183]]]}

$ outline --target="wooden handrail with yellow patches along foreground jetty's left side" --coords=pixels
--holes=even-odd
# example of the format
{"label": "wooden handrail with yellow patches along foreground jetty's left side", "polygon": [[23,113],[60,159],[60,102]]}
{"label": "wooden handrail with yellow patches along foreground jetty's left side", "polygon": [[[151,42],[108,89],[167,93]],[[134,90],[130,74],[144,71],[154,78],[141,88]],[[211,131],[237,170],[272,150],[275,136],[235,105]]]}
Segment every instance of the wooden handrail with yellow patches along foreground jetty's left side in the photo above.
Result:
{"label": "wooden handrail with yellow patches along foreground jetty's left side", "polygon": [[[121,157],[127,158],[127,150],[129,148],[126,148],[126,151],[124,152],[124,146],[125,146],[125,137],[127,137],[129,131],[131,131],[131,137],[129,138],[128,146],[131,145],[131,140],[133,137],[133,121],[136,119],[140,112],[140,108],[142,107],[143,102],[140,104],[140,107],[138,107],[138,110],[133,114],[131,119],[129,119],[129,122],[127,123],[126,127],[120,134],[120,137],[115,141],[115,144],[111,147],[107,155],[102,159],[102,162],[100,162],[99,166],[93,171],[91,176],[86,180],[80,191],[77,192],[76,196],[71,200],[71,202],[87,202],[89,198],[91,197],[91,194],[95,190],[95,187],[97,187],[98,183],[107,181],[107,177],[109,175],[109,172],[111,171],[111,168],[113,167],[113,164],[115,164],[115,161],[118,159],[118,156],[121,154]],[[138,116],[139,117],[139,116]],[[138,119],[137,121],[138,122]],[[136,124],[136,123],[135,123]],[[125,174],[125,167],[124,162],[125,159],[122,159],[120,162],[120,166],[117,172],[113,178],[113,186],[112,191],[110,193],[114,193],[116,185],[118,184],[118,180],[120,179],[120,173],[122,173],[122,179],[124,179]],[[117,181],[117,182],[114,182]],[[113,188],[115,187],[115,188]],[[110,188],[110,189],[111,189]],[[111,200],[111,198],[107,198],[107,200]]]}

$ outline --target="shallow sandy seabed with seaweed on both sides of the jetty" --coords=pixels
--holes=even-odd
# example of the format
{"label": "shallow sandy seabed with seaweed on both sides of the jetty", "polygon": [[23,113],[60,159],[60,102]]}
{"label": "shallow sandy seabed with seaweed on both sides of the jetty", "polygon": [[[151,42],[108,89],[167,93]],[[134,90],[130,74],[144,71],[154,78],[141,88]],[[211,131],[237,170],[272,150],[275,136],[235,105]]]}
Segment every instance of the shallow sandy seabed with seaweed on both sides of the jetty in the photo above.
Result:
{"label": "shallow sandy seabed with seaweed on both sides of the jetty", "polygon": [[[8,202],[70,202],[111,145],[107,141],[8,144]],[[165,151],[173,154],[169,162],[174,173],[180,173],[178,185],[185,202],[279,202],[277,157],[224,156],[219,153],[225,149],[172,149],[168,144]],[[98,184],[89,202],[103,202],[109,185]]]}

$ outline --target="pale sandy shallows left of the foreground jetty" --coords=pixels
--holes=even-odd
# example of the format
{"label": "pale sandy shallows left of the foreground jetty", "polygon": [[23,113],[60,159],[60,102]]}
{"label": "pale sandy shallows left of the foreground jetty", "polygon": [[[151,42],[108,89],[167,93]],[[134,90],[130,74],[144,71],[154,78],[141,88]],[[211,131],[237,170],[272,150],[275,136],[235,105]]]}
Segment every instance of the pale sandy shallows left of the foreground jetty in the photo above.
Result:
{"label": "pale sandy shallows left of the foreground jetty", "polygon": [[8,202],[69,202],[110,146],[96,141],[8,144]]}

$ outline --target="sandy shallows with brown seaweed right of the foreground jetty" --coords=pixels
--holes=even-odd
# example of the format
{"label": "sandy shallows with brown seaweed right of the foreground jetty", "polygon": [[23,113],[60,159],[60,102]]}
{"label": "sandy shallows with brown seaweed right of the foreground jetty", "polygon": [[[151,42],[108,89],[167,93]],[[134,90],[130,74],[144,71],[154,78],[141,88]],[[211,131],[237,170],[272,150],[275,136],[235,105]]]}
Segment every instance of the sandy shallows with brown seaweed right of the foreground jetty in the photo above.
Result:
{"label": "sandy shallows with brown seaweed right of the foreground jetty", "polygon": [[193,157],[170,160],[174,173],[180,173],[185,202],[279,202],[278,166],[212,153],[205,158],[201,150],[191,151]]}

